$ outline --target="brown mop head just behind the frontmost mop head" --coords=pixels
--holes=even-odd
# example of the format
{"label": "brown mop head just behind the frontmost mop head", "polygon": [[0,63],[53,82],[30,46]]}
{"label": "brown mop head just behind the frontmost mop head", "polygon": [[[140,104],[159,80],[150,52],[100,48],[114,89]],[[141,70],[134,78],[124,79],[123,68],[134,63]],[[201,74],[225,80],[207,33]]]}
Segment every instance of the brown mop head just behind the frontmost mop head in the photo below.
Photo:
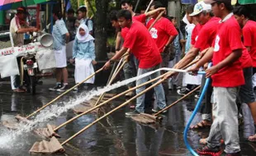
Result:
{"label": "brown mop head just behind the frontmost mop head", "polygon": [[60,138],[60,136],[55,133],[54,129],[56,128],[56,126],[47,124],[46,128],[39,128],[34,130],[34,133],[36,133],[36,135],[39,135],[42,139],[50,139],[53,136]]}

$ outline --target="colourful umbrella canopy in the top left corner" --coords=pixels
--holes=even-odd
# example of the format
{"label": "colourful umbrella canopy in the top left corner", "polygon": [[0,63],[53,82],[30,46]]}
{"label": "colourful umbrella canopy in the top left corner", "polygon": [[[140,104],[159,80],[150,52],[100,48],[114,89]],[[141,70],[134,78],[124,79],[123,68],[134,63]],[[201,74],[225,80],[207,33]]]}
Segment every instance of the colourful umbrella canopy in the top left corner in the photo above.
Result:
{"label": "colourful umbrella canopy in the top left corner", "polygon": [[[31,6],[35,4],[39,4],[42,2],[49,2],[50,0],[7,0],[10,1],[8,3],[0,3],[0,10],[10,10],[10,9],[16,9],[17,7],[21,6]],[[12,2],[11,2],[12,1]]]}

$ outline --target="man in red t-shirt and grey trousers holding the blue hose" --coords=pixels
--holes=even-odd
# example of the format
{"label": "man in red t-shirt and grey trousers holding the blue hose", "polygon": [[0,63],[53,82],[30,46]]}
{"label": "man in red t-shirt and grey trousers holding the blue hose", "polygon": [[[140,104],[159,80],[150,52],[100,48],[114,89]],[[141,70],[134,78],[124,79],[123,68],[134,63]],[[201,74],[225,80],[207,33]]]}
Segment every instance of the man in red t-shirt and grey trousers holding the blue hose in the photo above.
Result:
{"label": "man in red t-shirt and grey trousers holding the blue hose", "polygon": [[241,30],[231,12],[230,0],[205,0],[211,3],[211,9],[221,21],[216,33],[214,48],[208,51],[190,71],[212,60],[213,67],[206,69],[206,77],[212,79],[215,120],[211,125],[207,145],[197,149],[198,154],[220,154],[220,139],[225,140],[226,155],[240,155],[238,108],[236,97],[239,86],[244,85],[243,68],[239,57],[244,48]]}

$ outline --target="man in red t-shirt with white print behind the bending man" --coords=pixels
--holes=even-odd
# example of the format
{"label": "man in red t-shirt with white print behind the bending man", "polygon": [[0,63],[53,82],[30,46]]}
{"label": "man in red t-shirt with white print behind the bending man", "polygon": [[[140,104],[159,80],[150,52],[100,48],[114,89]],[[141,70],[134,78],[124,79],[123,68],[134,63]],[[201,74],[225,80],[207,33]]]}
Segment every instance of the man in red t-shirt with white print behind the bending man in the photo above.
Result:
{"label": "man in red t-shirt with white print behind the bending man", "polygon": [[[161,2],[153,2],[149,8],[150,11],[154,11],[159,7],[163,7]],[[153,24],[155,19],[159,16],[161,11],[157,11],[152,15],[151,20],[148,22],[146,27],[149,27]],[[168,48],[173,43],[173,40],[178,35],[178,31],[175,29],[173,23],[169,21],[167,18],[162,16],[159,21],[157,21],[151,30],[149,30],[152,38],[154,39],[155,44],[159,48],[159,52],[161,53],[163,62],[161,63],[161,67],[168,67],[169,62],[169,52]]]}

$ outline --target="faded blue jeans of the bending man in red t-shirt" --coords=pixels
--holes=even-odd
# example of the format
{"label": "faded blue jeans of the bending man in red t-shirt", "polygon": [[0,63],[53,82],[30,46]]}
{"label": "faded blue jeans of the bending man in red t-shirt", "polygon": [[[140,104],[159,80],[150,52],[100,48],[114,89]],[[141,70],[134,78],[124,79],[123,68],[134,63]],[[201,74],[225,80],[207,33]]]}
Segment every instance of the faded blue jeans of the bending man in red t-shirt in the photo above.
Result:
{"label": "faded blue jeans of the bending man in red t-shirt", "polygon": [[[139,67],[138,69],[138,74],[137,76],[143,75],[149,71],[154,71],[159,69],[160,65],[157,65],[155,67],[150,67],[147,69],[141,69]],[[149,79],[154,79],[156,77],[160,76],[160,71],[154,72],[153,74],[151,74],[150,76],[145,76],[144,78],[137,80],[136,81],[136,85],[141,85],[144,84],[146,81],[148,81]],[[154,81],[155,83],[156,81]],[[136,94],[140,94],[141,91],[145,90],[145,85],[140,87],[139,89],[136,89]],[[165,102],[165,95],[164,95],[164,88],[163,85],[157,85],[154,87],[154,92],[156,94],[156,99],[158,100],[158,106],[160,109],[163,109],[166,107],[166,102]],[[145,94],[141,95],[140,97],[138,97],[136,99],[136,107],[135,107],[137,112],[144,112],[145,111]]]}

